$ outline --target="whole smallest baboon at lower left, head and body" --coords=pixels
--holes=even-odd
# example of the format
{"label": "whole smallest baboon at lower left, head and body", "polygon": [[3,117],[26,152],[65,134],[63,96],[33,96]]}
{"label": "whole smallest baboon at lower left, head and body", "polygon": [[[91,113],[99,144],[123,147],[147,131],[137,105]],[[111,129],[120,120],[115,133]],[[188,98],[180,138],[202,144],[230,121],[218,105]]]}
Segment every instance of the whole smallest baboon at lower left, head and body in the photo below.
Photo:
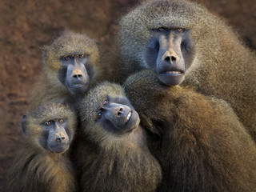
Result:
{"label": "whole smallest baboon at lower left, head and body", "polygon": [[50,102],[23,115],[24,144],[10,168],[6,191],[76,191],[76,171],[68,150],[75,123],[68,107]]}

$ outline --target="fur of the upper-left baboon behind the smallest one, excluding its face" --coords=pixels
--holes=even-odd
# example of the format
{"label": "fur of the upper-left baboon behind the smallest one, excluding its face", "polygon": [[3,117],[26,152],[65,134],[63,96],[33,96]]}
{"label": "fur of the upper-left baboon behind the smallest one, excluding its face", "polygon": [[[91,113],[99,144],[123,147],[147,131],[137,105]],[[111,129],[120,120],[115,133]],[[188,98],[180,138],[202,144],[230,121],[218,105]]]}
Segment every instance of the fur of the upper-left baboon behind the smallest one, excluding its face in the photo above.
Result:
{"label": "fur of the upper-left baboon behind the smallest one, excluding its face", "polygon": [[60,58],[74,55],[88,54],[90,65],[93,66],[94,78],[102,78],[102,67],[99,62],[99,50],[97,42],[88,38],[86,34],[77,34],[71,31],[65,31],[60,37],[56,38],[49,46],[44,47],[44,69],[41,78],[34,87],[31,108],[38,106],[42,102],[69,102],[74,95],[58,80],[58,70],[62,63]]}

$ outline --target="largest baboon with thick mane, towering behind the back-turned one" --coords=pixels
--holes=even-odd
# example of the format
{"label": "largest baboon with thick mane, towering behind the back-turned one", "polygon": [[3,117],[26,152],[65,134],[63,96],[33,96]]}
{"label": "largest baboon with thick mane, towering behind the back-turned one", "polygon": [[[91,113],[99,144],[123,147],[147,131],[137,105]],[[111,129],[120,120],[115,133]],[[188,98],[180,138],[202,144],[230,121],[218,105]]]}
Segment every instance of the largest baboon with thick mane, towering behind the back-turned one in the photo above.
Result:
{"label": "largest baboon with thick mane, towering behind the back-turned one", "polygon": [[195,2],[147,1],[121,19],[118,38],[123,80],[146,68],[166,85],[194,86],[230,103],[256,139],[255,53],[221,18]]}

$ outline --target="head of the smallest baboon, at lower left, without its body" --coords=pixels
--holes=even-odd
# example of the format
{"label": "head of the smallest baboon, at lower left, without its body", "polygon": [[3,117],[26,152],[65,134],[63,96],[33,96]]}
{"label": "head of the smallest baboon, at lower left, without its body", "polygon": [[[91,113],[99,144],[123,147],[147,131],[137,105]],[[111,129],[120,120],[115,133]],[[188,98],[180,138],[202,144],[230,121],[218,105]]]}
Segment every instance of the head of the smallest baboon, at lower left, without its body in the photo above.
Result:
{"label": "head of the smallest baboon, at lower left, without its body", "polygon": [[[71,127],[72,126],[72,127]],[[66,106],[42,104],[22,116],[22,131],[35,145],[53,153],[68,150],[74,132],[74,117]]]}

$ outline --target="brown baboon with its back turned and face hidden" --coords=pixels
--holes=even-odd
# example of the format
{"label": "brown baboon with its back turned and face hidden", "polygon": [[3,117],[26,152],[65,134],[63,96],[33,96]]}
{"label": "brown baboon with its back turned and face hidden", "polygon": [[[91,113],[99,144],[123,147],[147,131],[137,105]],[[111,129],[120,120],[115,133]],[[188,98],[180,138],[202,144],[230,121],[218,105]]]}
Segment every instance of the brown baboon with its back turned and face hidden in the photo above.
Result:
{"label": "brown baboon with its back turned and face hidden", "polygon": [[225,101],[166,86],[151,70],[128,78],[125,90],[162,166],[157,191],[256,190],[256,146]]}

